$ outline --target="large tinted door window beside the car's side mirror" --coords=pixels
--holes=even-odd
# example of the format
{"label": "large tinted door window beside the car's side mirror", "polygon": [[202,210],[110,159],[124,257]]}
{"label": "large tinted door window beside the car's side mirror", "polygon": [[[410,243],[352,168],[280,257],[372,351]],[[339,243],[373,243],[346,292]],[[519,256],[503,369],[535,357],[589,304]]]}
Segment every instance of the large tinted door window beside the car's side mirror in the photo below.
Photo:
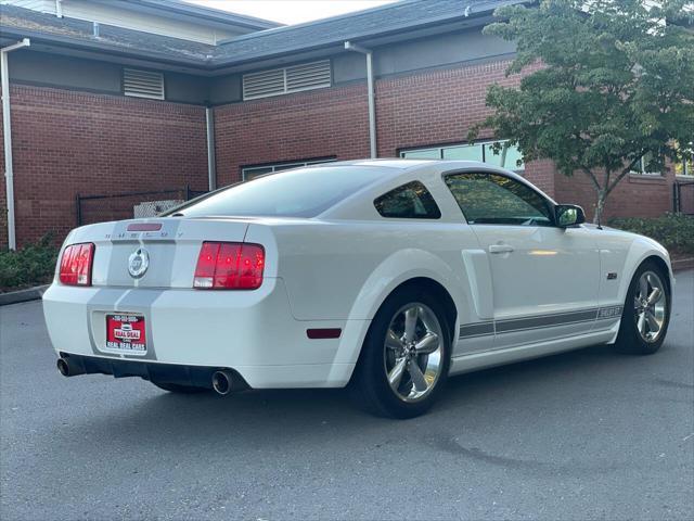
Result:
{"label": "large tinted door window beside the car's side mirror", "polygon": [[509,177],[454,174],[446,177],[446,185],[471,225],[553,225],[547,201]]}

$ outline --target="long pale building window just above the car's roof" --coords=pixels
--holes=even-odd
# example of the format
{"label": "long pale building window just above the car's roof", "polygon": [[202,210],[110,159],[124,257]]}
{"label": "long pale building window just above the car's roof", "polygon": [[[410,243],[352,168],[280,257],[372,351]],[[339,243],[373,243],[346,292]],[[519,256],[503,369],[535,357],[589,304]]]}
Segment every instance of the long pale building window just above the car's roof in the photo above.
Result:
{"label": "long pale building window just above the car's roof", "polygon": [[[501,145],[501,150],[498,152],[493,150],[492,145],[494,143]],[[400,152],[400,157],[408,160],[480,161],[510,170],[525,170],[523,154],[520,154],[517,147],[510,144],[507,140],[403,150]]]}

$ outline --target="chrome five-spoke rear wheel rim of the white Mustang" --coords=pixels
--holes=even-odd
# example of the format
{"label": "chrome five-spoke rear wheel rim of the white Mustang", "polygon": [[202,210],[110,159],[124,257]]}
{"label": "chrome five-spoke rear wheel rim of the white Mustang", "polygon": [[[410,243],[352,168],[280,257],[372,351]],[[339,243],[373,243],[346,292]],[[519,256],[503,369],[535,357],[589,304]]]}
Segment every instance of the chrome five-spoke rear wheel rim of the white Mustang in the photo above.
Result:
{"label": "chrome five-spoke rear wheel rim of the white Mustang", "polygon": [[442,347],[441,325],[428,306],[410,303],[396,312],[386,331],[384,363],[400,399],[419,402],[432,392],[441,373]]}

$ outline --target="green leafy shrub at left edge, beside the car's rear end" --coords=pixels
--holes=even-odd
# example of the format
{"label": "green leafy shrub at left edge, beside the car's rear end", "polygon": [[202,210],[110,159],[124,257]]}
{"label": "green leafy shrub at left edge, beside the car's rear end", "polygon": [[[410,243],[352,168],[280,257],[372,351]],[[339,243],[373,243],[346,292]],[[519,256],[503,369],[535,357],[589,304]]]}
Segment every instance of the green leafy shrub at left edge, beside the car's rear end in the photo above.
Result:
{"label": "green leafy shrub at left edge, beside the car's rear end", "polygon": [[0,251],[0,291],[49,283],[59,252],[53,239],[49,233],[16,252]]}

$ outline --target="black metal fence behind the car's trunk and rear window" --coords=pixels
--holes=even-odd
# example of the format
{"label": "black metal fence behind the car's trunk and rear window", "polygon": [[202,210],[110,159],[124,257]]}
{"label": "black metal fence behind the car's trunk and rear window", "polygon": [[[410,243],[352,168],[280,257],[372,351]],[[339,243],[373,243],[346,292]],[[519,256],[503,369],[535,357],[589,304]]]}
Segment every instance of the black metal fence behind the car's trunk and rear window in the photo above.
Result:
{"label": "black metal fence behind the car's trunk and rear window", "polygon": [[204,191],[190,187],[144,192],[108,193],[100,195],[77,194],[77,226],[107,220],[154,217],[182,202],[190,201]]}

